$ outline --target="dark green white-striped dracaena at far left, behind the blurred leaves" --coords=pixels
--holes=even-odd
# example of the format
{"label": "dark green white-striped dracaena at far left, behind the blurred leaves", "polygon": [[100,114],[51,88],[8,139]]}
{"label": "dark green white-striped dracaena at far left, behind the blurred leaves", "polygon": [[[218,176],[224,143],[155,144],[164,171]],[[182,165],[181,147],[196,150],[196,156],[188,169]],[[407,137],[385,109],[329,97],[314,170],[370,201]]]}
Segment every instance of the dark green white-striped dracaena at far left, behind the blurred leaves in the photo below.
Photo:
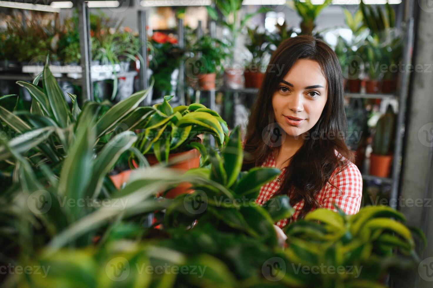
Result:
{"label": "dark green white-striped dracaena at far left, behind the blurred leaves", "polygon": [[[42,88],[38,86],[39,82],[42,82]],[[112,107],[89,101],[81,110],[76,96],[72,94],[69,96],[73,104],[71,108],[68,107],[48,64],[32,83],[18,81],[17,84],[25,87],[32,96],[30,111],[10,112],[0,106],[0,128],[12,148],[28,159],[29,165],[38,169],[42,164],[53,168],[60,167],[61,163],[66,161],[72,142],[82,129],[83,119],[87,114],[96,117],[93,128],[95,141],[92,147],[97,152],[118,132],[133,129],[138,124],[135,117],[141,112],[137,107],[149,92],[147,90],[132,94]],[[10,96],[13,95],[4,97]],[[29,139],[36,139],[32,144],[37,145],[29,147]],[[0,161],[6,160],[3,172],[13,175],[17,168],[16,162],[9,157],[9,153],[2,153]],[[60,172],[58,168],[55,171]]]}

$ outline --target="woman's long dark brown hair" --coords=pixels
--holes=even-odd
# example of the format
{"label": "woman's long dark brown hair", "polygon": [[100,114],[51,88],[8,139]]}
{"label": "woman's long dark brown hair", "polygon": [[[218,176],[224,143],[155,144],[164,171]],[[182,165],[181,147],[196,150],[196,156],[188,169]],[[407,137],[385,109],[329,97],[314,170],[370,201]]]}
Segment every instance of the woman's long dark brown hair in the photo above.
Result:
{"label": "woman's long dark brown hair", "polygon": [[[354,162],[355,159],[344,140],[347,121],[341,67],[337,55],[325,42],[310,36],[297,36],[281,42],[272,55],[249,118],[245,141],[246,158],[242,169],[262,165],[269,153],[278,149],[268,145],[262,132],[276,122],[272,95],[298,59],[319,63],[327,80],[328,97],[319,120],[308,131],[310,137],[306,137],[304,144],[291,157],[280,188],[273,196],[292,191],[289,194],[292,206],[304,200],[304,207],[298,216],[303,218],[308,211],[320,206],[315,195],[326,185],[333,171],[339,168],[338,173],[349,161]],[[271,137],[266,135],[268,134],[265,133],[265,137]],[[339,155],[336,155],[335,150]]]}

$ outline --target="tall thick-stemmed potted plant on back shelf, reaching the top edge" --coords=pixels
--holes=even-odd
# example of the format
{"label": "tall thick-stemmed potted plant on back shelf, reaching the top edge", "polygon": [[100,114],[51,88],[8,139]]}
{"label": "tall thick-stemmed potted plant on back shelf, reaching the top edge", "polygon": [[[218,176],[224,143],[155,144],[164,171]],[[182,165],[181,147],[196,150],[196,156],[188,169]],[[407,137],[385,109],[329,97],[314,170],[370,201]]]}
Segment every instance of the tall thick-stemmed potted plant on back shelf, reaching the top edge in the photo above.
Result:
{"label": "tall thick-stemmed potted plant on back shelf, reaching the top edge", "polygon": [[[239,33],[246,26],[246,23],[251,17],[267,12],[266,7],[262,7],[254,13],[240,15],[243,0],[218,0],[213,1],[215,7],[206,6],[207,13],[211,19],[219,23],[221,26],[229,30],[229,38],[227,45],[229,47],[228,65],[224,67],[224,82],[227,87],[239,89],[242,87],[243,70],[236,68],[235,52],[238,50],[236,40]],[[219,16],[219,15],[222,15]]]}

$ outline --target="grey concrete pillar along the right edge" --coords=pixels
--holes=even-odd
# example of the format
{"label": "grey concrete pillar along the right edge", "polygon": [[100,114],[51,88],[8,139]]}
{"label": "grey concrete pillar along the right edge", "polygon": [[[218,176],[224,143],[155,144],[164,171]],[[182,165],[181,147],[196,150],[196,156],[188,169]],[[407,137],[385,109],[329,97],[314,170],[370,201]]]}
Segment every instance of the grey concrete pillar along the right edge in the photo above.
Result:
{"label": "grey concrete pillar along the right edge", "polygon": [[[433,1],[415,1],[417,36],[407,107],[401,193],[398,209],[407,225],[421,228],[427,248],[420,252],[421,263],[408,275],[393,279],[393,287],[433,287]],[[430,5],[429,5],[430,4]],[[430,199],[430,200],[429,200]]]}

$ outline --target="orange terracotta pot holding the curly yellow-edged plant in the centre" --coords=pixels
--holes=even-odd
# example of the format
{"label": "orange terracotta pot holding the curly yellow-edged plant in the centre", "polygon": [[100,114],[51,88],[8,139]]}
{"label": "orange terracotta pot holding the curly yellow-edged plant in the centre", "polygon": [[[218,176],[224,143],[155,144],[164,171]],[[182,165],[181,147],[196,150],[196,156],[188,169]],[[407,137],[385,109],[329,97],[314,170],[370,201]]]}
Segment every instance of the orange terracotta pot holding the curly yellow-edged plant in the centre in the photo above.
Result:
{"label": "orange terracotta pot holding the curly yellow-edged plant in the centre", "polygon": [[[187,159],[170,165],[170,168],[179,169],[186,172],[191,168],[198,168],[200,166],[200,152],[197,149],[191,149],[186,152],[170,154],[168,155],[168,160],[173,160],[175,157],[179,156],[181,156],[182,159]],[[159,163],[158,159],[156,159],[155,155],[153,154],[146,154],[145,157],[151,166]],[[134,165],[135,168],[138,168],[138,165],[135,161],[132,161],[132,165]],[[191,189],[191,187],[192,185],[190,183],[181,182],[180,184],[178,184],[178,186],[164,194],[164,197],[173,199],[180,194],[192,193],[194,190]]]}

